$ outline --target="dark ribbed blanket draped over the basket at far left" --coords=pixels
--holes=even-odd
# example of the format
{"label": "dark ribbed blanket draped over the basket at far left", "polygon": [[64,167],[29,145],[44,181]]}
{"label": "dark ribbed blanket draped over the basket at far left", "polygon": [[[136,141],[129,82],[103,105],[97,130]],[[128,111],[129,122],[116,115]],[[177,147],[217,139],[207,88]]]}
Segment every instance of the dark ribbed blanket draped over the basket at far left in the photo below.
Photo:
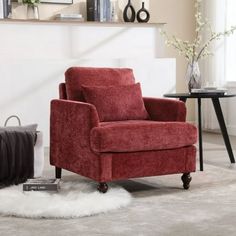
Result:
{"label": "dark ribbed blanket draped over the basket at far left", "polygon": [[34,142],[30,131],[0,131],[0,188],[34,176]]}

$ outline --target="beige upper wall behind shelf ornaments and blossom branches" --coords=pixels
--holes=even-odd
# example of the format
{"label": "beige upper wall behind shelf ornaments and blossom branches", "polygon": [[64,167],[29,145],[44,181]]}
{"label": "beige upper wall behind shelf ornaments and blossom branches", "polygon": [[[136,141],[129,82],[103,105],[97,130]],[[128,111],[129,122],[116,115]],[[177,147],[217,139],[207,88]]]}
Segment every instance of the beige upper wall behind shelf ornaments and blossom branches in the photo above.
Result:
{"label": "beige upper wall behind shelf ornaments and blossom branches", "polygon": [[[122,20],[122,11],[127,4],[127,0],[111,0],[117,2],[117,11],[119,20]],[[141,2],[145,2],[145,7],[150,11],[150,22],[166,22],[166,30],[170,34],[175,34],[178,37],[186,40],[192,40],[195,34],[195,19],[194,19],[194,3],[195,0],[131,0],[137,11],[141,7]],[[86,4],[85,0],[74,0],[73,5],[58,5],[58,4],[40,4],[40,18],[51,19],[59,12],[76,13],[80,12],[85,15]],[[26,17],[26,7],[18,6],[13,10],[13,16],[17,18]],[[164,55],[159,55],[167,58],[176,58],[176,90],[178,92],[186,92],[187,83],[185,81],[186,61],[183,56],[180,56],[175,50],[169,48]],[[187,101],[188,120],[195,120],[194,100]]]}

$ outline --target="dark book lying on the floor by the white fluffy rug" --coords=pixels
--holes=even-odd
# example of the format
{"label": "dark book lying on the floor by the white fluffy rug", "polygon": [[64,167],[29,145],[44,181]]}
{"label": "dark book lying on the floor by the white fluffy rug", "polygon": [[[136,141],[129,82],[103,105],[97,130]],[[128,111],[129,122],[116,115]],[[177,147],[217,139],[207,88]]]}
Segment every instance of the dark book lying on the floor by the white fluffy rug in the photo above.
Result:
{"label": "dark book lying on the floor by the white fluffy rug", "polygon": [[23,191],[58,191],[60,179],[28,179],[23,184]]}

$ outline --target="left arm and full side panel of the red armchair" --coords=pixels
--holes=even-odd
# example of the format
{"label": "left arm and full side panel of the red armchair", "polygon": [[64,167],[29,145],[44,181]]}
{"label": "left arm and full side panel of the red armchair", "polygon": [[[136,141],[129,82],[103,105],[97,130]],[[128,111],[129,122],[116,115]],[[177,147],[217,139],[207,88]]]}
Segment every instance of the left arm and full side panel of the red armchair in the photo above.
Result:
{"label": "left arm and full side panel of the red armchair", "polygon": [[92,104],[53,100],[50,116],[50,164],[99,182],[111,179],[111,167],[106,169],[109,164],[106,165],[104,158],[99,158],[90,148],[90,131],[97,126],[99,118]]}

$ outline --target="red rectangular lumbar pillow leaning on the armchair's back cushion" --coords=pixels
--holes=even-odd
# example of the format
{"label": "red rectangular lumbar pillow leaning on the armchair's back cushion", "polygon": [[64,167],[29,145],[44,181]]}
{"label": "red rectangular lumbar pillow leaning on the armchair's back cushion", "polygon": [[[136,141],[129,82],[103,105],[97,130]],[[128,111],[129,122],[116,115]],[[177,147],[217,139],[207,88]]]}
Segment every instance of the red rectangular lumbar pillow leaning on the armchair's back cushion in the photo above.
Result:
{"label": "red rectangular lumbar pillow leaning on the armchair's back cushion", "polygon": [[100,121],[146,120],[140,83],[121,86],[82,86],[87,103],[93,104]]}

